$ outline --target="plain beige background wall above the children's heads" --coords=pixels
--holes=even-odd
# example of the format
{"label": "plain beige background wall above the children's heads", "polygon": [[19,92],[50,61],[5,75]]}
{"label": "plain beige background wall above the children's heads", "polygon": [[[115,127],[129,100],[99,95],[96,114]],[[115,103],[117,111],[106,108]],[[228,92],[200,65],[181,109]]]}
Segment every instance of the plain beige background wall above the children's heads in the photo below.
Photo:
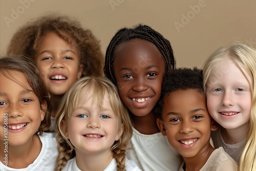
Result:
{"label": "plain beige background wall above the children's heads", "polygon": [[[170,41],[177,67],[201,67],[216,48],[234,40],[256,48],[254,0],[0,1],[2,55],[20,26],[31,18],[52,12],[80,20],[84,28],[91,29],[100,39],[103,53],[121,27],[138,23],[149,25]],[[12,19],[12,22],[8,23],[6,19]]]}

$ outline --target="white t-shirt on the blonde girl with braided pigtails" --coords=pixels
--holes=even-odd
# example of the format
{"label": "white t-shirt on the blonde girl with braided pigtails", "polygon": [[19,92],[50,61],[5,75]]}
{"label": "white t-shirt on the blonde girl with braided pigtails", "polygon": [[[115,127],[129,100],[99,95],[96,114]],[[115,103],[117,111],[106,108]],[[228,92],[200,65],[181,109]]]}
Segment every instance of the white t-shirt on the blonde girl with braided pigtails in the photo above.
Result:
{"label": "white t-shirt on the blonde girl with braided pigtails", "polygon": [[[141,171],[141,169],[131,160],[125,159],[126,171]],[[112,159],[110,164],[103,171],[116,171],[116,159]],[[76,157],[70,159],[62,171],[81,171],[76,164]]]}

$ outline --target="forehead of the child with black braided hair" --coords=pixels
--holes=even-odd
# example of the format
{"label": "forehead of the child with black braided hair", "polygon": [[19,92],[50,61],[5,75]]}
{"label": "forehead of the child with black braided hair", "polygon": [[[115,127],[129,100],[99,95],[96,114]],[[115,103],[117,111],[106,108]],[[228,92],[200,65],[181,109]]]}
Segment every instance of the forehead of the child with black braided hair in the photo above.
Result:
{"label": "forehead of the child with black braided hair", "polygon": [[[159,49],[150,41],[132,39],[124,42],[116,50],[114,66],[132,63],[162,63],[164,62]],[[137,64],[136,64],[137,63]]]}

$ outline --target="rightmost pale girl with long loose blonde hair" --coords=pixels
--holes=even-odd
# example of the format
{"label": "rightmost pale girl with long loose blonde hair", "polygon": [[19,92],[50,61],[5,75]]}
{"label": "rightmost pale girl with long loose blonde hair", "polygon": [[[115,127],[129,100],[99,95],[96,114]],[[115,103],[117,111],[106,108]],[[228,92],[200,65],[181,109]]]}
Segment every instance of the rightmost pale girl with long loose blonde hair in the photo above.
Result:
{"label": "rightmost pale girl with long loose blonde hair", "polygon": [[215,147],[223,146],[239,170],[256,170],[256,51],[240,43],[220,47],[203,75],[209,113],[221,125],[212,132]]}

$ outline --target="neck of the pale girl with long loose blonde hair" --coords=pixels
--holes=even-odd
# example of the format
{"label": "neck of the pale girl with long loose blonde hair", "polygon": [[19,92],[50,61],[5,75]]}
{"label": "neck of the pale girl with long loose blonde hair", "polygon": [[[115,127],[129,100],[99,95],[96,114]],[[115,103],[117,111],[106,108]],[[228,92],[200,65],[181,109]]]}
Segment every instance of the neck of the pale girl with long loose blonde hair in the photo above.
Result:
{"label": "neck of the pale girl with long loose blonde hair", "polygon": [[236,129],[224,129],[221,127],[221,136],[225,143],[236,144],[246,138],[248,124],[244,124]]}

